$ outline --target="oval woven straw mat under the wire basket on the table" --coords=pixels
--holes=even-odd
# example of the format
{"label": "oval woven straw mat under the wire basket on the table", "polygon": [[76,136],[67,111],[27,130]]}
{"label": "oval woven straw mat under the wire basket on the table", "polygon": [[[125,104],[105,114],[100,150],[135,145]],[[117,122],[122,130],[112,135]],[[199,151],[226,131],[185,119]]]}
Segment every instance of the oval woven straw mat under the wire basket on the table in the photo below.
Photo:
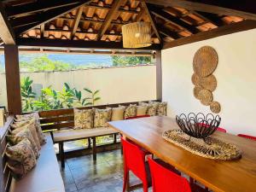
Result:
{"label": "oval woven straw mat under the wire basket on the table", "polygon": [[207,137],[207,144],[202,139],[189,137],[181,130],[168,130],[162,135],[166,141],[177,145],[192,154],[212,160],[236,160],[241,158],[241,149],[215,137]]}

